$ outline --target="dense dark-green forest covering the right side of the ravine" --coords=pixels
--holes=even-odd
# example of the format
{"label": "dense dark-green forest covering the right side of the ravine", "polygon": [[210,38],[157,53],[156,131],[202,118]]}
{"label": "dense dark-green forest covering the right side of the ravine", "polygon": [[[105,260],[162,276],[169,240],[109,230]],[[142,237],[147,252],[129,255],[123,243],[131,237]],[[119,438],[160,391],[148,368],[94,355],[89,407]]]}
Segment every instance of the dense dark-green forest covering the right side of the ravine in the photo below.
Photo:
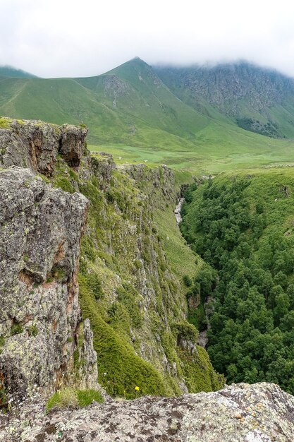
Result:
{"label": "dense dark-green forest covering the right side of the ravine", "polygon": [[228,383],[269,381],[292,394],[293,190],[290,168],[222,174],[190,186],[181,224],[214,269],[202,293],[202,304],[203,296],[213,299],[207,335],[214,368]]}

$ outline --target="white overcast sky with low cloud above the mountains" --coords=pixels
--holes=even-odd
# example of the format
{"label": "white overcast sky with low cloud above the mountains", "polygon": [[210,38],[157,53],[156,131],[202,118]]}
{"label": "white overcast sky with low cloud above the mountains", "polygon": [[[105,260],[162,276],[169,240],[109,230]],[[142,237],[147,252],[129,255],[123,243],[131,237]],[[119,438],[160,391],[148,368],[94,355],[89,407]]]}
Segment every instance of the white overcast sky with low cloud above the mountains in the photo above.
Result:
{"label": "white overcast sky with low cloud above the mountains", "polygon": [[0,65],[42,77],[248,59],[294,77],[288,0],[0,0]]}

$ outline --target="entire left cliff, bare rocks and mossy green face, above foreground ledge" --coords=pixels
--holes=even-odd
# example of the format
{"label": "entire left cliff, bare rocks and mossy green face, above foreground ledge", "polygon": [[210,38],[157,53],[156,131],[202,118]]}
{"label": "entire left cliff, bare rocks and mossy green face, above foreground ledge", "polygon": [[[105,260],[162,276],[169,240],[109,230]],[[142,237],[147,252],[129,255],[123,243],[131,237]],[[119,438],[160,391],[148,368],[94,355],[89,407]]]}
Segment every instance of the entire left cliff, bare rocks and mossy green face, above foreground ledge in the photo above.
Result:
{"label": "entire left cliff, bare rocks and mossy green face, above foreground ledge", "polygon": [[[1,121],[0,368],[8,390],[54,390],[78,372],[91,386],[94,350],[111,395],[134,398],[135,386],[140,395],[220,388],[153,220],[154,208],[172,214],[173,172],[91,157],[83,128]],[[90,357],[79,350],[80,306],[94,333]]]}

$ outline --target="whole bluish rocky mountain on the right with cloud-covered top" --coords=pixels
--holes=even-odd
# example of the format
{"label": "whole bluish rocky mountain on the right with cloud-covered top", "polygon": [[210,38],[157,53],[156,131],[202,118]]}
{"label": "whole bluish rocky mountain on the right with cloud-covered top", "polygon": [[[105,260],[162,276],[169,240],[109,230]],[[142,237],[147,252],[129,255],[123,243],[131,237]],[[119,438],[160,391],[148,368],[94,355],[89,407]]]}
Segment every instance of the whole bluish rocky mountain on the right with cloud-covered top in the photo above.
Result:
{"label": "whole bluish rocky mountain on the right with cloud-covered top", "polygon": [[243,129],[275,138],[294,136],[294,80],[246,62],[175,68],[157,75],[184,102],[209,114],[210,104]]}

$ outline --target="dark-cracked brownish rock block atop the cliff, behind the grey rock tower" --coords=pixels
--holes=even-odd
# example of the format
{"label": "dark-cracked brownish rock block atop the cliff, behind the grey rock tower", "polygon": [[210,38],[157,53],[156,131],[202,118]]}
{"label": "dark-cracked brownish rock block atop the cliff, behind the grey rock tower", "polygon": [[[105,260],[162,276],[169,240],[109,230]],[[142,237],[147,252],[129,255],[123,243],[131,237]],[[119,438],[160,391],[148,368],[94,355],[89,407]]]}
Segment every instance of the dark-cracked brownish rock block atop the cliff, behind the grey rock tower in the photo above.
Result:
{"label": "dark-cracked brownish rock block atop the cliff, behind the grey rock tower", "polygon": [[0,129],[0,165],[25,167],[51,177],[57,155],[78,167],[87,129],[42,121],[12,120]]}

